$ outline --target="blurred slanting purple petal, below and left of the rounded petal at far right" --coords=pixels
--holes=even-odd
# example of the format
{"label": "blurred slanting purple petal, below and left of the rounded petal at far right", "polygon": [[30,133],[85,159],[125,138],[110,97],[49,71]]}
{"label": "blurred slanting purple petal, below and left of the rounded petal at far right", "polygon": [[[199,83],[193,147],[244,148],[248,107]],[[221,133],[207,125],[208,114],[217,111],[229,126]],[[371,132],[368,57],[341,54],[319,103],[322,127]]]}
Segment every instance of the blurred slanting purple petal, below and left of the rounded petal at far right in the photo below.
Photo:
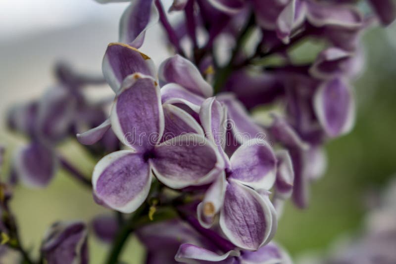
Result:
{"label": "blurred slanting purple petal, below and left of the rounded petal at far right", "polygon": [[286,147],[297,147],[307,149],[309,146],[302,141],[297,132],[282,117],[273,115],[274,122],[271,125],[270,132],[272,136]]}

